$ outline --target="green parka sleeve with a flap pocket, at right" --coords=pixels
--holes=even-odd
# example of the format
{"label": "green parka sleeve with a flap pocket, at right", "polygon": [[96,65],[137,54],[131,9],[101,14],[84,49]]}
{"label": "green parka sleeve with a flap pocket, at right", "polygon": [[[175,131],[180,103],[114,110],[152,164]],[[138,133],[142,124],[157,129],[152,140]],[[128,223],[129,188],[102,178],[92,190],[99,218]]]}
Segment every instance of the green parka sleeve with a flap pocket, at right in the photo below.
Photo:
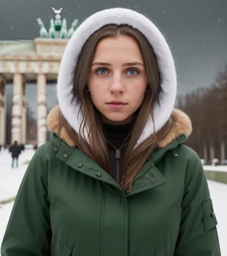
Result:
{"label": "green parka sleeve with a flap pocket, at right", "polygon": [[181,225],[174,256],[221,256],[216,225],[204,169],[194,152],[185,176]]}

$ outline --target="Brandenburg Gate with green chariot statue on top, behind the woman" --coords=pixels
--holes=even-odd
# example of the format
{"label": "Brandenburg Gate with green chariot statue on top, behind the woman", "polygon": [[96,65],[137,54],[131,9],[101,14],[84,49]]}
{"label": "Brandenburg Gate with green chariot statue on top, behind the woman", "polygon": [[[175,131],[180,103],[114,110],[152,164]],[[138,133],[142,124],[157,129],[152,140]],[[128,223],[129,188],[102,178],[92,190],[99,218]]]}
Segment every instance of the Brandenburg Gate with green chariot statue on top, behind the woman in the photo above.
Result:
{"label": "Brandenburg Gate with green chariot statue on top, behind the woman", "polygon": [[6,86],[13,81],[11,142],[26,143],[26,81],[37,84],[37,144],[46,142],[46,85],[57,80],[60,61],[78,20],[67,30],[66,19],[50,20],[49,31],[40,18],[40,37],[34,40],[0,41],[0,145],[6,142]]}

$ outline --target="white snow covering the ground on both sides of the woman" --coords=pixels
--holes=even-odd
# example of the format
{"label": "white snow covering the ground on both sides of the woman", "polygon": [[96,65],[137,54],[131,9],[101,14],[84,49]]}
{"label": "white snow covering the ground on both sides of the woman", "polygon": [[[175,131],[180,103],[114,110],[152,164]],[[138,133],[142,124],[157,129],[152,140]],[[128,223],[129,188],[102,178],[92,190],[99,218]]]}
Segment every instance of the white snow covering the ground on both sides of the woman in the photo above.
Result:
{"label": "white snow covering the ground on both sides of the woman", "polygon": [[[0,152],[0,202],[13,198],[23,179],[27,163],[33,156],[34,150],[28,149],[19,158],[19,168],[11,168],[11,156]],[[26,163],[26,164],[24,164]],[[204,170],[227,171],[227,166],[204,166]],[[222,256],[227,255],[227,184],[208,181],[210,194],[214,204],[218,225],[218,235]],[[11,214],[13,202],[0,205],[0,244]]]}

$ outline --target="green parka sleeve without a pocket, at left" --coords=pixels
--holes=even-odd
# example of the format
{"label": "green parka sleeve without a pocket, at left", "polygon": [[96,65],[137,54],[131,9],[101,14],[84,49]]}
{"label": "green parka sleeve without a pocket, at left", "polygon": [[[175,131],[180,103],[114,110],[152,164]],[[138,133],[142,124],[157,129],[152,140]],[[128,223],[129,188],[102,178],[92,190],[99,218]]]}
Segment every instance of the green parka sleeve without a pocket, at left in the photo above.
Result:
{"label": "green parka sleeve without a pocket, at left", "polygon": [[42,146],[29,163],[12,208],[1,256],[50,256],[48,170]]}

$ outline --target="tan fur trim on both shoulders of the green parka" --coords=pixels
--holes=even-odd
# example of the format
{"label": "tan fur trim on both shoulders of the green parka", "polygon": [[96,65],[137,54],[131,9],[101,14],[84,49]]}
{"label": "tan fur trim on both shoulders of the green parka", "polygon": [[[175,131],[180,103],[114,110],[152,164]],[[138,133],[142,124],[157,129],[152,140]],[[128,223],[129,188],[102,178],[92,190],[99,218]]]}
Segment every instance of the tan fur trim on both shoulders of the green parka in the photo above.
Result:
{"label": "tan fur trim on both shoulders of the green parka", "polygon": [[[170,132],[167,134],[165,138],[163,138],[160,143],[159,147],[163,148],[168,146],[170,143],[173,142],[174,139],[178,138],[181,134],[185,134],[189,136],[192,133],[192,122],[190,118],[181,110],[174,109],[174,125],[171,128]],[[54,132],[58,134],[60,127],[60,108],[57,105],[54,107],[47,117],[47,129],[50,132]],[[74,141],[69,137],[68,133],[66,132],[65,128],[62,127],[59,139],[63,140],[68,146],[75,147]]]}

